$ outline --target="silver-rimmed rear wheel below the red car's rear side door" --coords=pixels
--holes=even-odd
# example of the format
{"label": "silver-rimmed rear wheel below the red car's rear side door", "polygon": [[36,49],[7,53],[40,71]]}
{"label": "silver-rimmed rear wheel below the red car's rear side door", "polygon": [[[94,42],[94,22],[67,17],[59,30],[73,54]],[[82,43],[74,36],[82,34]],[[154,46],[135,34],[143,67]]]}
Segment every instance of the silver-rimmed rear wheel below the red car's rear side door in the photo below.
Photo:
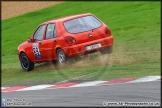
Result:
{"label": "silver-rimmed rear wheel below the red car's rear side door", "polygon": [[58,64],[65,64],[67,62],[67,56],[62,49],[57,50],[57,63]]}

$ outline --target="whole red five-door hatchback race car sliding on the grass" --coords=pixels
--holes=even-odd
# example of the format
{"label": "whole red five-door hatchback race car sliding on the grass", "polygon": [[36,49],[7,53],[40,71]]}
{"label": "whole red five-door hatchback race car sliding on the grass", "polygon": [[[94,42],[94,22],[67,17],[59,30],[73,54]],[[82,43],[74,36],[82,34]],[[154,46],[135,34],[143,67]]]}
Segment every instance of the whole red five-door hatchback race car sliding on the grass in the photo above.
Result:
{"label": "whole red five-door hatchback race car sliding on the grass", "polygon": [[27,41],[18,46],[18,57],[24,71],[34,63],[56,61],[100,51],[112,52],[113,36],[109,27],[91,13],[58,18],[38,26]]}

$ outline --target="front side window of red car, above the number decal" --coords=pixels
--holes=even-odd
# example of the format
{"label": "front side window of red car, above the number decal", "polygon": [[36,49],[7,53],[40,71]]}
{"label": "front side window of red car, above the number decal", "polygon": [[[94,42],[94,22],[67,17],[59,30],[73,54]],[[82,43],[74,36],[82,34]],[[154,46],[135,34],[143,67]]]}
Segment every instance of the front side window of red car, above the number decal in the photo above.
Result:
{"label": "front side window of red car, above the number decal", "polygon": [[42,40],[43,38],[43,33],[44,33],[44,29],[45,29],[45,25],[41,25],[39,26],[39,28],[37,29],[37,31],[34,34],[34,40]]}

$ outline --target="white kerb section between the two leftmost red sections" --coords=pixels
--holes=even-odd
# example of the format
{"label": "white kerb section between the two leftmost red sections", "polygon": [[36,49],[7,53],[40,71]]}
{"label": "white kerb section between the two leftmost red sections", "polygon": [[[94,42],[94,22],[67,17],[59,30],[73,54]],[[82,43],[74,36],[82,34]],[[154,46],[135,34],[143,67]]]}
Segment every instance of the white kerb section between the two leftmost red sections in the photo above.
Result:
{"label": "white kerb section between the two leftmost red sections", "polygon": [[19,90],[16,90],[16,91],[40,90],[40,89],[45,89],[45,88],[50,87],[50,86],[53,86],[53,85],[36,85],[36,86],[27,87],[27,88],[24,88],[24,89],[19,89]]}

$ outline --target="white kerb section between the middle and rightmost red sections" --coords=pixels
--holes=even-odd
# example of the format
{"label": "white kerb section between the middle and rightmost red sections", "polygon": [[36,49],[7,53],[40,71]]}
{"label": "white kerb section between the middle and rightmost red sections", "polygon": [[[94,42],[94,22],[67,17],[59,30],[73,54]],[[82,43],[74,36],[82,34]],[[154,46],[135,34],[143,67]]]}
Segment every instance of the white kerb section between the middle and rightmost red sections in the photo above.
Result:
{"label": "white kerb section between the middle and rightmost red sections", "polygon": [[107,82],[107,81],[89,81],[89,82],[84,82],[81,84],[77,84],[71,87],[85,87],[85,86],[95,86],[97,84],[103,83],[103,82]]}

